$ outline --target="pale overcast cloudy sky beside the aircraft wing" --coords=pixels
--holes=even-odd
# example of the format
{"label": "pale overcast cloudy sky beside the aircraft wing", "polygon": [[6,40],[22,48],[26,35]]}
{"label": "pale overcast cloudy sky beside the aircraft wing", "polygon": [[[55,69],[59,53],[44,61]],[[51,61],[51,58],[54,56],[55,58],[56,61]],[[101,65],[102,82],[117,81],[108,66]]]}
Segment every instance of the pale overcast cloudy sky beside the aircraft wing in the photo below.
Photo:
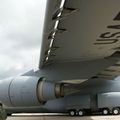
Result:
{"label": "pale overcast cloudy sky beside the aircraft wing", "polygon": [[0,0],[0,79],[37,68],[46,0]]}

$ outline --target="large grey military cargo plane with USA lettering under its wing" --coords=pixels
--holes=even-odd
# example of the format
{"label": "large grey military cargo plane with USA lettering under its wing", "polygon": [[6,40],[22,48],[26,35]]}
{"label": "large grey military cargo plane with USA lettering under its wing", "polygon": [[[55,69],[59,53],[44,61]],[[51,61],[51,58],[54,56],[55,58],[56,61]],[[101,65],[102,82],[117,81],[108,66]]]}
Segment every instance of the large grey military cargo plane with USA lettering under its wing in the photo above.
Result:
{"label": "large grey military cargo plane with USA lettering under its wing", "polygon": [[120,0],[47,0],[39,70],[0,81],[13,112],[120,113]]}

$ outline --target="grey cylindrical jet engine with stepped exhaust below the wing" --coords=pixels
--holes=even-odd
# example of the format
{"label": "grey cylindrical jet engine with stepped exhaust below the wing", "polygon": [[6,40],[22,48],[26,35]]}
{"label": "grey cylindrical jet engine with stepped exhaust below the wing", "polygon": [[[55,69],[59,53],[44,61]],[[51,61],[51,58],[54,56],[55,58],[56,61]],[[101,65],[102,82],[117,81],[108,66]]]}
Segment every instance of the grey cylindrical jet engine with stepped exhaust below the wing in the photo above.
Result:
{"label": "grey cylindrical jet engine with stepped exhaust below the wing", "polygon": [[63,96],[62,84],[35,76],[19,76],[0,81],[0,101],[7,106],[39,106]]}

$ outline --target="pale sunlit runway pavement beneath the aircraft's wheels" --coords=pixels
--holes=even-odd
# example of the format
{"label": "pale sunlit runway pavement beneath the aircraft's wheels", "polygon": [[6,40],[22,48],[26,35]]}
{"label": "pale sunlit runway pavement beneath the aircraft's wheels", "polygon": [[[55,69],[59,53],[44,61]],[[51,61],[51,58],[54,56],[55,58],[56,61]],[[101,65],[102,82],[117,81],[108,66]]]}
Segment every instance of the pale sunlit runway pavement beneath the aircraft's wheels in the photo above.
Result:
{"label": "pale sunlit runway pavement beneath the aircraft's wheels", "polygon": [[67,115],[13,115],[7,120],[120,120],[117,116],[86,116],[86,117],[69,117]]}

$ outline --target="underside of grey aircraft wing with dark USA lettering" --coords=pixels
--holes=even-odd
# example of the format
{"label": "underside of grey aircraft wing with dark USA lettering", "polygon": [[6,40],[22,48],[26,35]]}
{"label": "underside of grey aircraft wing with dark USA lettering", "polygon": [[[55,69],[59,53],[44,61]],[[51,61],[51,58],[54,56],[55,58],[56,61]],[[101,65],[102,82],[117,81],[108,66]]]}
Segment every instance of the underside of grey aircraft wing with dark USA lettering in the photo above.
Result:
{"label": "underside of grey aircraft wing with dark USA lettering", "polygon": [[39,68],[107,59],[112,61],[111,64],[104,64],[89,78],[113,79],[118,76],[119,5],[119,0],[48,0]]}

